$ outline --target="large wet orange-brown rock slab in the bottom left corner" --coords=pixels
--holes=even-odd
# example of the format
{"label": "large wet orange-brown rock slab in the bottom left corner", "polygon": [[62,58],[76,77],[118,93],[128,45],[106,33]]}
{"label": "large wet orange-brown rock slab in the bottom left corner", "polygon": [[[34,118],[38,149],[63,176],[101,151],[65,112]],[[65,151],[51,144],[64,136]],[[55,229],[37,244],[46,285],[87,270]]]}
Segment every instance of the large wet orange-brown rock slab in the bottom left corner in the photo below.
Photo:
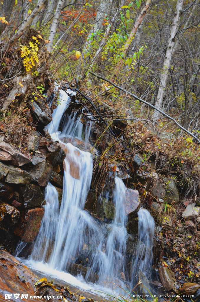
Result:
{"label": "large wet orange-brown rock slab in the bottom left corner", "polygon": [[[5,293],[34,295],[34,284],[39,278],[19,262],[14,256],[0,250],[0,300],[5,301]],[[18,299],[19,300],[19,299]],[[36,301],[28,298],[28,301]],[[40,301],[37,299],[37,301]]]}

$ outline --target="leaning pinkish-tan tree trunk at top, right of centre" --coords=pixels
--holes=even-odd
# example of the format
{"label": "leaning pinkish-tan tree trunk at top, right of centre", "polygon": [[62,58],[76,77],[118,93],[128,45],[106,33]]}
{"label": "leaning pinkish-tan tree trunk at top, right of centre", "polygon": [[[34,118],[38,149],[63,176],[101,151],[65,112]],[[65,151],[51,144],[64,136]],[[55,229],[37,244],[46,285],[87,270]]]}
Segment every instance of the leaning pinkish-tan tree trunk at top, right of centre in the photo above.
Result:
{"label": "leaning pinkish-tan tree trunk at top, right of centre", "polygon": [[[134,27],[131,31],[131,34],[129,35],[129,38],[128,40],[126,41],[126,43],[124,44],[124,47],[123,47],[123,54],[124,54],[124,57],[126,56],[127,54],[127,51],[131,45],[131,42],[133,41],[134,37],[135,37],[135,34],[137,32],[137,29],[139,28],[140,24],[142,23],[142,20],[146,14],[146,12],[148,11],[149,7],[150,7],[150,3],[151,3],[151,0],[147,0],[146,1],[146,4],[145,4],[145,7],[142,9],[141,13],[139,14],[137,20],[135,21],[135,24],[134,24]],[[119,69],[121,68],[123,64],[123,60],[121,59],[118,63],[118,65],[116,66],[116,69],[115,69],[115,74],[118,74],[119,72]]]}

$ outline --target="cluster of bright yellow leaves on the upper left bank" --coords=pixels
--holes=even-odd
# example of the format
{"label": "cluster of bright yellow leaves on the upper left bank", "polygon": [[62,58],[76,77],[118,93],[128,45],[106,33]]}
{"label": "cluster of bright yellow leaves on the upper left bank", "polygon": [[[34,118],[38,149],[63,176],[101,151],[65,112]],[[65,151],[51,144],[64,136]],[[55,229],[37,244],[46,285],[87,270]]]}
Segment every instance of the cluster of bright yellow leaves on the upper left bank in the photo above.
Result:
{"label": "cluster of bright yellow leaves on the upper left bank", "polygon": [[28,46],[21,45],[21,58],[24,58],[23,64],[26,69],[26,72],[30,72],[31,68],[35,66],[36,63],[38,63],[39,59],[37,57],[37,52],[39,50],[38,45],[40,42],[38,42],[36,37],[32,37],[35,42],[30,41]]}

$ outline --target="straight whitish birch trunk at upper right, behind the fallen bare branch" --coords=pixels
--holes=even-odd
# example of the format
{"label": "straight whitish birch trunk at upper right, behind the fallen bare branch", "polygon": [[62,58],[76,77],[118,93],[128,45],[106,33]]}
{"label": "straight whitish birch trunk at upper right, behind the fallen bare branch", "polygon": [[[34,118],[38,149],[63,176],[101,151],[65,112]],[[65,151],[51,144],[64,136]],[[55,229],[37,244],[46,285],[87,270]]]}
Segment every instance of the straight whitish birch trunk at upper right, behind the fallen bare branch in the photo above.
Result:
{"label": "straight whitish birch trunk at upper right, behind the fallen bare branch", "polygon": [[[164,94],[164,90],[166,87],[166,82],[167,82],[167,78],[168,78],[168,70],[169,70],[169,66],[171,63],[171,58],[172,58],[172,55],[174,52],[174,40],[175,40],[175,36],[176,36],[177,29],[179,26],[179,20],[180,20],[180,14],[182,11],[182,6],[183,6],[183,0],[177,0],[176,13],[175,13],[175,17],[174,17],[173,24],[172,24],[172,29],[171,29],[171,33],[170,33],[170,37],[169,37],[169,41],[168,41],[168,46],[167,46],[167,50],[166,50],[166,54],[165,54],[163,68],[161,70],[160,86],[158,88],[158,94],[157,94],[156,104],[155,104],[155,107],[160,110],[162,109],[162,105],[163,105],[163,94]],[[155,110],[153,113],[154,122],[157,122],[159,117],[160,117],[160,113]]]}

